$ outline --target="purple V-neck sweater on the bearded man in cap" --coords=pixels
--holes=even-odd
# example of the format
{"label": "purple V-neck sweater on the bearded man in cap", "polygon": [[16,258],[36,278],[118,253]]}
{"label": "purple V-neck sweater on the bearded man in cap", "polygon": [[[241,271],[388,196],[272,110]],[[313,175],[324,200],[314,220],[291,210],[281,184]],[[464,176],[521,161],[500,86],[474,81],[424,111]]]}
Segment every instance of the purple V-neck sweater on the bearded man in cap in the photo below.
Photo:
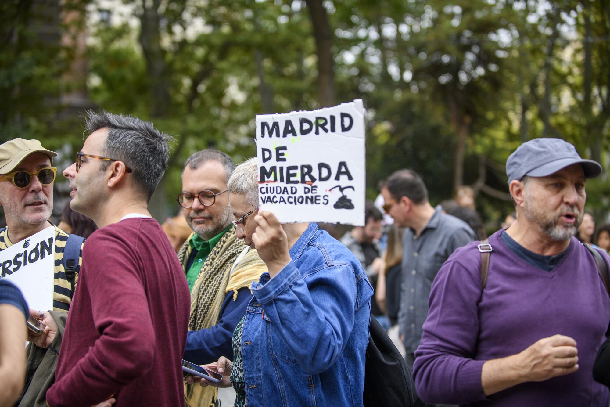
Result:
{"label": "purple V-neck sweater on the bearded man in cap", "polygon": [[[608,407],[608,387],[592,376],[610,320],[610,298],[593,255],[572,238],[561,261],[546,272],[512,253],[500,232],[489,237],[493,252],[482,298],[478,242],[456,250],[434,279],[415,352],[417,394],[428,403],[466,406]],[[554,334],[576,340],[577,372],[485,397],[485,361],[520,353]]]}

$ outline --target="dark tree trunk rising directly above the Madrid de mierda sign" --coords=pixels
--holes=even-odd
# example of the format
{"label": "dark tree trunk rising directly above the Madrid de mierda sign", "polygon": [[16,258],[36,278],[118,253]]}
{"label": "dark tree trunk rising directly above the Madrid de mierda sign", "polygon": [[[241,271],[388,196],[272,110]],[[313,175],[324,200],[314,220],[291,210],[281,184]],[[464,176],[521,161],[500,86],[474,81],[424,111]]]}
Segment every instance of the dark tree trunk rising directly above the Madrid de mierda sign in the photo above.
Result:
{"label": "dark tree trunk rising directly above the Madrid de mierda sign", "polygon": [[332,60],[332,31],[322,0],[305,0],[313,26],[318,56],[318,101],[320,107],[335,104],[335,77]]}

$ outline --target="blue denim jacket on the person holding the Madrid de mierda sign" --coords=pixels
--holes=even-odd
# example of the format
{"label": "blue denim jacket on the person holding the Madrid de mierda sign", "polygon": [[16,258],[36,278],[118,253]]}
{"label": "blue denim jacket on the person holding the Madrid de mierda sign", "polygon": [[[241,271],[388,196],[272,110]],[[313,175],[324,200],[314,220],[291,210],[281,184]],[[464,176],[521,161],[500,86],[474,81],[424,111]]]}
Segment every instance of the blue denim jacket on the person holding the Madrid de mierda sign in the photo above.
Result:
{"label": "blue denim jacket on the person holding the Madrid de mierda sign", "polygon": [[242,334],[248,407],[362,406],[373,287],[315,223],[290,258],[251,286]]}

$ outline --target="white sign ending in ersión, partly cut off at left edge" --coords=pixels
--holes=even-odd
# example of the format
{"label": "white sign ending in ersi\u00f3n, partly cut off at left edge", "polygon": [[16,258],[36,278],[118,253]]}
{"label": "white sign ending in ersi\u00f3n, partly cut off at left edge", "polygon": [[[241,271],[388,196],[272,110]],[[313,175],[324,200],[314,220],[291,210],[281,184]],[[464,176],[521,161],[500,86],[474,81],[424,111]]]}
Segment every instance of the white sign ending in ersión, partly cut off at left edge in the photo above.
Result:
{"label": "white sign ending in ersi\u00f3n, partly cut off at left edge", "polygon": [[0,251],[0,278],[19,287],[29,308],[53,309],[54,237],[49,226]]}

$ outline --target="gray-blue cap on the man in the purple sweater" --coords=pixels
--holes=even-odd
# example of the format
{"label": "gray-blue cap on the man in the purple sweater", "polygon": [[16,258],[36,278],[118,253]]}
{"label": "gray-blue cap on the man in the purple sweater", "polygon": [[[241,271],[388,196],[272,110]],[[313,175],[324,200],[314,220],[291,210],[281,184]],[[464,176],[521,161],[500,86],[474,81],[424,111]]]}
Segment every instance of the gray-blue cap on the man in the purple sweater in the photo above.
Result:
{"label": "gray-blue cap on the man in the purple sweater", "polygon": [[541,137],[519,146],[506,160],[508,183],[521,181],[524,176],[548,176],[572,164],[583,166],[585,178],[601,174],[601,165],[594,160],[583,160],[575,146],[562,139]]}

